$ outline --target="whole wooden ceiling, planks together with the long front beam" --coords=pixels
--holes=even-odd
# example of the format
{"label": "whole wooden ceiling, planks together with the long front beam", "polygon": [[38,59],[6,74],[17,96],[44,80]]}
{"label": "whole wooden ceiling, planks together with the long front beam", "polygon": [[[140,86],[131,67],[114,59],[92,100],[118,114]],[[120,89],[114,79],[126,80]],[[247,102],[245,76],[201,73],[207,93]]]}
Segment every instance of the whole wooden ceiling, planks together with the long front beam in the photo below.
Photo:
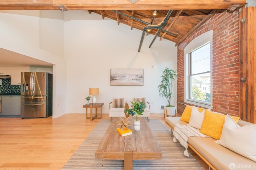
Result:
{"label": "whole wooden ceiling, planks together with the long front beam", "polygon": [[[1,0],[0,10],[88,10],[131,29],[143,30],[147,25],[159,25],[169,10],[170,17],[161,28],[146,29],[178,45],[188,35],[220,12],[233,12],[246,4],[246,0]],[[132,3],[134,2],[134,3]],[[156,16],[153,16],[156,10]],[[152,41],[153,42],[153,41]]]}

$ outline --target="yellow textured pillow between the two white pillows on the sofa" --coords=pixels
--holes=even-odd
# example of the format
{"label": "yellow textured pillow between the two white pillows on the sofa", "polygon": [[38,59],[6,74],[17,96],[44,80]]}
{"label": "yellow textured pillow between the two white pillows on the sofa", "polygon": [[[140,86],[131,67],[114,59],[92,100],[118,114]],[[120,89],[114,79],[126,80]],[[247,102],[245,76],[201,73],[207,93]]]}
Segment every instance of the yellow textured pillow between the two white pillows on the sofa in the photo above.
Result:
{"label": "yellow textured pillow between the two white pillows on the sofa", "polygon": [[[200,132],[203,133],[204,135],[208,135],[209,137],[219,140],[225,122],[225,117],[226,115],[224,114],[213,113],[211,111],[206,110],[204,112],[204,120]],[[236,121],[236,123],[238,122],[239,117],[231,117]]]}

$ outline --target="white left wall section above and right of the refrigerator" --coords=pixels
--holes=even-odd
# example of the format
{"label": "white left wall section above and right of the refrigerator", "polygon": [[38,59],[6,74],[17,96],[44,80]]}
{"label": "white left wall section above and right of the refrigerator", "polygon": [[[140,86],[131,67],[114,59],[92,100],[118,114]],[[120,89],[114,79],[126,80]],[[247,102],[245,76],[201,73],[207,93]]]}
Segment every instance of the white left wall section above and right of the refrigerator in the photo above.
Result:
{"label": "white left wall section above and right of the refrigerator", "polygon": [[[40,11],[0,11],[0,48],[54,64],[53,117],[59,117],[66,113],[67,101],[67,65],[66,59],[61,56],[64,21],[61,11],[47,12],[41,12],[43,18],[40,18]],[[47,31],[51,30],[48,27],[54,31]],[[40,36],[40,31],[44,32],[47,39],[42,34]],[[60,33],[56,36],[58,31]]]}

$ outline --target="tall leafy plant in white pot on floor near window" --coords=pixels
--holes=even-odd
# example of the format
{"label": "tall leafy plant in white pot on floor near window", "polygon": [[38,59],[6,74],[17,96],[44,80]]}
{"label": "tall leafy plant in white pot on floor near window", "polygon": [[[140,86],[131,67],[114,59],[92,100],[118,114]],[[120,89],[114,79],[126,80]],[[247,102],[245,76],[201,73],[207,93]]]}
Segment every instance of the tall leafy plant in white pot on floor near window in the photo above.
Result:
{"label": "tall leafy plant in white pot on floor near window", "polygon": [[[167,114],[171,116],[175,116],[176,106],[171,105],[171,99],[173,98],[174,94],[172,93],[172,83],[177,78],[177,72],[166,67],[162,71],[162,80],[160,85],[158,86],[159,95],[162,98],[166,98],[167,105],[164,106],[164,111],[167,110]],[[164,113],[165,114],[165,113]]]}

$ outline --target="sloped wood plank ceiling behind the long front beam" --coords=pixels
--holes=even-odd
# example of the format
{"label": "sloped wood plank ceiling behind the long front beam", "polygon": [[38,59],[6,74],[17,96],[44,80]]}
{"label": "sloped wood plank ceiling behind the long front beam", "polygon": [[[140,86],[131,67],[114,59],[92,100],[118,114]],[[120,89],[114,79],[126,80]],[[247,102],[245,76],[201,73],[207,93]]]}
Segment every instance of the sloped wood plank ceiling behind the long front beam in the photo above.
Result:
{"label": "sloped wood plank ceiling behind the long front beam", "polygon": [[[185,39],[190,33],[195,31],[200,25],[205,23],[209,18],[218,12],[225,10],[172,10],[170,17],[167,19],[166,24],[157,35],[161,39],[167,39],[175,42],[176,45]],[[166,18],[169,10],[89,10],[89,13],[94,12],[112,20],[116,20],[117,24],[124,23],[129,25],[131,29],[143,30],[145,29],[146,35],[156,35],[159,28],[152,29],[152,25],[158,25]],[[160,26],[159,26],[160,27]]]}

